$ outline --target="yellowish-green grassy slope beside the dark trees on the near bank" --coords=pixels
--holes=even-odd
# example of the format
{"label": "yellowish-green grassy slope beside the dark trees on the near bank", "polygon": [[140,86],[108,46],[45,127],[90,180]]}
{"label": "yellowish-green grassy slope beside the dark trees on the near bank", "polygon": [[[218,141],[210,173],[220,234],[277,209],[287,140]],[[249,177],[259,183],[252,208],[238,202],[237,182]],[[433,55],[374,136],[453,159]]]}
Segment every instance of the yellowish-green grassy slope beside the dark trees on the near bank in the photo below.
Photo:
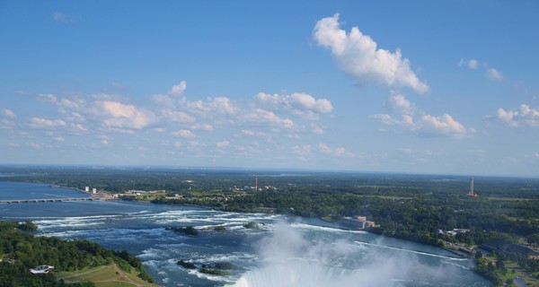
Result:
{"label": "yellowish-green grassy slope beside the dark trees on the near bank", "polygon": [[82,270],[77,270],[76,272],[58,272],[56,275],[58,280],[64,280],[65,283],[93,282],[98,287],[159,286],[154,283],[143,281],[137,277],[137,274],[126,273],[120,270],[116,264],[84,268]]}

